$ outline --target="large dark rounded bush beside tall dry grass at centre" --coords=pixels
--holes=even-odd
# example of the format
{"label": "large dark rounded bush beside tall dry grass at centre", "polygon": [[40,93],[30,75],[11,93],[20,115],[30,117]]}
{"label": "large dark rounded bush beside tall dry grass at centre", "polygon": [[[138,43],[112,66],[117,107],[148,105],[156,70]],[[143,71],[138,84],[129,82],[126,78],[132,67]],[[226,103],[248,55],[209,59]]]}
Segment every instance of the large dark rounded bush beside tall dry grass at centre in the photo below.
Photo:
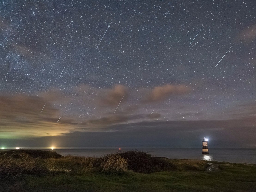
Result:
{"label": "large dark rounded bush beside tall dry grass at centre", "polygon": [[169,161],[169,159],[153,157],[143,151],[126,151],[119,153],[119,155],[127,159],[128,170],[139,173],[153,173],[159,171],[174,171],[177,167]]}

